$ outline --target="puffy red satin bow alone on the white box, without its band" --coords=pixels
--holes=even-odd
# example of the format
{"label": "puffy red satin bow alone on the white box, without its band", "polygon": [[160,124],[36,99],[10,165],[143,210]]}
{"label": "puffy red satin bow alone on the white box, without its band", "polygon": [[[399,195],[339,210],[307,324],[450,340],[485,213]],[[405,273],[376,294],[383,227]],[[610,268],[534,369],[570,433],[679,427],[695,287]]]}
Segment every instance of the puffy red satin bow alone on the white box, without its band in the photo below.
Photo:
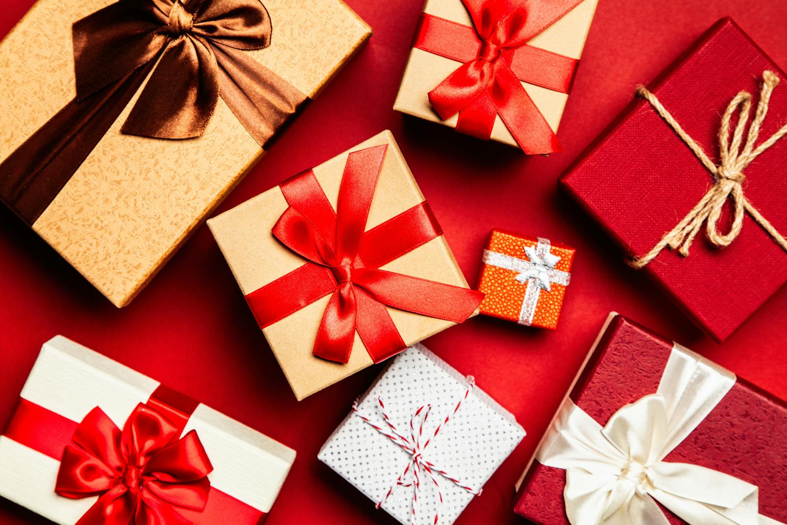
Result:
{"label": "puffy red satin bow alone on the white box, without its band", "polygon": [[76,525],[190,523],[177,508],[205,508],[213,468],[195,431],[179,435],[142,404],[122,432],[102,409],[87,414],[65,447],[55,488],[73,499],[99,496]]}

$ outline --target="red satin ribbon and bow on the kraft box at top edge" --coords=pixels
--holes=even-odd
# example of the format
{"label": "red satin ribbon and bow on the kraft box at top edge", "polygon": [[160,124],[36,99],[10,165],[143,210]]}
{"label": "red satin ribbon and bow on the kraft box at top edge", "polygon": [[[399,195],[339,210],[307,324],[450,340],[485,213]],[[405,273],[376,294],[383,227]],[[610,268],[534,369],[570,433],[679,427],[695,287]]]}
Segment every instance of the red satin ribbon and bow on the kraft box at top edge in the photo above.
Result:
{"label": "red satin ribbon and bow on the kraft box at top edge", "polygon": [[582,0],[462,0],[475,28],[423,13],[414,47],[463,62],[429,92],[443,120],[459,113],[457,131],[490,139],[501,116],[525,153],[563,147],[519,82],[568,93],[578,60],[528,46]]}

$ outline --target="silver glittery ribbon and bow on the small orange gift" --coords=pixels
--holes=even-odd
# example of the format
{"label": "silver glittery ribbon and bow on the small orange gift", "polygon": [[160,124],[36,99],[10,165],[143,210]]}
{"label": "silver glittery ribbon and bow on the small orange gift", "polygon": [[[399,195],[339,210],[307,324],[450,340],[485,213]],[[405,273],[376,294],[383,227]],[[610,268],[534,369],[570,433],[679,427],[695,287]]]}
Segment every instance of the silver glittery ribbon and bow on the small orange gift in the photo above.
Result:
{"label": "silver glittery ribbon and bow on the small orange gift", "polygon": [[541,290],[551,290],[552,283],[568,286],[571,280],[570,273],[555,269],[560,262],[560,257],[549,252],[551,247],[548,238],[538,237],[536,246],[525,246],[528,261],[504,253],[484,250],[483,261],[486,264],[518,272],[514,279],[519,283],[527,284],[522,308],[519,310],[519,324],[530,326],[533,323]]}

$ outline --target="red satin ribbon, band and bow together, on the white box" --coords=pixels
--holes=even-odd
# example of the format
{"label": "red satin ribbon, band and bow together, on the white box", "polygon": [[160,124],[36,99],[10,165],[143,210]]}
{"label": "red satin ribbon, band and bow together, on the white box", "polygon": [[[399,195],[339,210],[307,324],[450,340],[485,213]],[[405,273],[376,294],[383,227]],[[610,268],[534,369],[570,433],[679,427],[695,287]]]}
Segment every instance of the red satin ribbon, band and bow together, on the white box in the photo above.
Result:
{"label": "red satin ribbon, band and bow together, on the white box", "polygon": [[197,434],[179,438],[197,405],[160,386],[120,431],[101,409],[76,423],[23,398],[4,435],[61,460],[57,494],[99,496],[78,525],[261,523],[264,512],[210,486]]}

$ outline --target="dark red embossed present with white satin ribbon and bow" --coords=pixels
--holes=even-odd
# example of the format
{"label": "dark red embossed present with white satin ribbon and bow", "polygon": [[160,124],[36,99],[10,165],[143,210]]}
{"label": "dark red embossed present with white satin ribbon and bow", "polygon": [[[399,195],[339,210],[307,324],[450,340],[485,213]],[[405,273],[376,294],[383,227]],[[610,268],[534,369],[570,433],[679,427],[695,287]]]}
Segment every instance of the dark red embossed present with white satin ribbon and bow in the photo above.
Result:
{"label": "dark red embossed present with white satin ribbon and bow", "polygon": [[519,488],[533,523],[787,523],[787,403],[612,314]]}

